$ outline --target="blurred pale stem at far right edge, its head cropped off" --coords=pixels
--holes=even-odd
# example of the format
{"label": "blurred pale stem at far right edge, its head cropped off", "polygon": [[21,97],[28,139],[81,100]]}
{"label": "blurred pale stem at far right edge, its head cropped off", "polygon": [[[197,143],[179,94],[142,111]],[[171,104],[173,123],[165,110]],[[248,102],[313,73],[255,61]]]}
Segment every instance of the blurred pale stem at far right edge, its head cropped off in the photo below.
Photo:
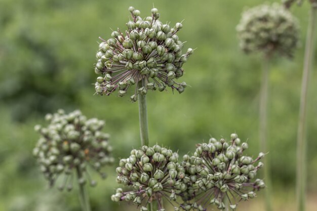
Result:
{"label": "blurred pale stem at far right edge, its head cropped off", "polygon": [[299,105],[299,119],[297,130],[297,171],[296,171],[296,198],[297,210],[305,210],[306,201],[306,110],[307,110],[307,91],[309,75],[313,58],[313,46],[316,27],[317,7],[312,7],[310,20],[307,29],[307,40],[305,47],[304,68],[302,77],[302,88]]}

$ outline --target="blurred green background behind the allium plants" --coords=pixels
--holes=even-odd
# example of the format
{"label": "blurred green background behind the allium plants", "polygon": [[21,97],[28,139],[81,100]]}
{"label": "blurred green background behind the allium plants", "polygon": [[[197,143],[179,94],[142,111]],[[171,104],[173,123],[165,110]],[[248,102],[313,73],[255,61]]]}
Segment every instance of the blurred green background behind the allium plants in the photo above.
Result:
{"label": "blurred green background behind the allium plants", "polygon": [[[272,1],[268,1],[272,2]],[[93,64],[98,36],[125,28],[128,7],[142,16],[153,4],[161,21],[183,19],[181,40],[197,48],[184,65],[184,93],[149,93],[150,142],[170,146],[181,155],[211,136],[232,132],[248,140],[248,154],[258,148],[258,104],[261,56],[245,55],[235,26],[246,7],[260,0],[0,0],[0,210],[80,210],[76,191],[49,189],[31,155],[38,139],[33,127],[58,108],[81,109],[88,117],[106,120],[115,157],[126,157],[140,145],[138,105],[128,97],[94,96]],[[274,58],[270,72],[269,154],[275,210],[295,210],[296,131],[308,1],[292,12],[301,25],[301,47],[293,60]],[[316,42],[317,43],[317,42]],[[316,48],[317,49],[317,48]],[[314,57],[308,109],[308,210],[317,208],[317,52]],[[138,210],[110,201],[115,166],[108,178],[89,188],[93,210]],[[98,178],[98,175],[94,176]],[[264,210],[263,193],[240,210]]]}

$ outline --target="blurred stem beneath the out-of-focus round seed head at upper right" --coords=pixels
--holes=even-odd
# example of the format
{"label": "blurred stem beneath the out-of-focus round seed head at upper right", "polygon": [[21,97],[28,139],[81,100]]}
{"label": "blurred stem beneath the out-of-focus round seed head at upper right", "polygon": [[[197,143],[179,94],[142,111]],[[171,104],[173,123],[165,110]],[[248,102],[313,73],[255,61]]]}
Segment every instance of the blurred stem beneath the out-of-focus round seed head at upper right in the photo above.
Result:
{"label": "blurred stem beneath the out-of-focus round seed head at upper right", "polygon": [[[267,152],[267,99],[268,99],[268,75],[269,75],[269,55],[265,55],[262,70],[262,81],[260,90],[260,151]],[[266,211],[272,211],[272,204],[270,200],[270,175],[269,162],[264,157],[264,178],[268,188],[265,189],[265,208]]]}

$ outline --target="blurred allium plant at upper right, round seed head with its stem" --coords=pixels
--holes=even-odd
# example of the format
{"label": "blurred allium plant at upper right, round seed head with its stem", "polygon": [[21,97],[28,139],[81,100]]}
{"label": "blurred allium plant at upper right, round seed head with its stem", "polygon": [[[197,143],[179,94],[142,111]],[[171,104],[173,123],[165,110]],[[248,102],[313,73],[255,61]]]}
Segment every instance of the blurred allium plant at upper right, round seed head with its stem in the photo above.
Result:
{"label": "blurred allium plant at upper right, round seed head with its stem", "polygon": [[[261,151],[267,151],[267,101],[269,61],[272,56],[291,58],[298,45],[299,25],[293,15],[279,4],[260,5],[245,11],[236,27],[240,47],[246,53],[261,53],[263,56],[262,81],[259,103],[259,137]],[[268,164],[268,162],[266,161]],[[268,168],[264,174],[269,186]],[[266,210],[271,211],[270,194],[266,189]]]}

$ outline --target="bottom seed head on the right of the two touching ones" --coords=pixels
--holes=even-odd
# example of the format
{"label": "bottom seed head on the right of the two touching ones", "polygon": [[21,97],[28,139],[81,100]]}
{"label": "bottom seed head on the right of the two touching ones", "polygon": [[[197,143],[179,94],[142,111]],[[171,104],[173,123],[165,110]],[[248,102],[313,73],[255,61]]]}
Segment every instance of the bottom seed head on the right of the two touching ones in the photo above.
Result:
{"label": "bottom seed head on the right of the two touching ones", "polygon": [[256,179],[257,171],[263,166],[259,159],[244,155],[247,143],[241,143],[236,134],[231,134],[230,142],[214,138],[209,143],[197,145],[193,156],[184,155],[182,166],[186,170],[194,203],[192,208],[206,210],[208,202],[224,209],[224,198],[228,198],[230,209],[235,210],[237,202],[256,196],[255,190],[265,187],[262,180]]}

